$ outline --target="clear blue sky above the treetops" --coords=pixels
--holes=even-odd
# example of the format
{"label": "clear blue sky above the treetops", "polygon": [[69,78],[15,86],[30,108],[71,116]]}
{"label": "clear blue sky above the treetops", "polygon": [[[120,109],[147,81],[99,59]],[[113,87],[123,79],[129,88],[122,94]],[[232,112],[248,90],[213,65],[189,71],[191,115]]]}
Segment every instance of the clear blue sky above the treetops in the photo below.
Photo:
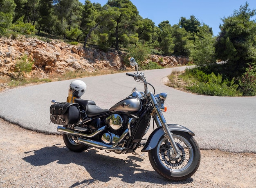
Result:
{"label": "clear blue sky above the treetops", "polygon": [[[79,0],[84,4],[85,0]],[[90,0],[103,6],[108,0]],[[221,18],[239,10],[247,1],[249,9],[256,9],[256,0],[130,0],[138,9],[139,15],[149,18],[155,25],[168,20],[171,25],[179,23],[180,17],[190,19],[194,15],[201,23],[209,25],[216,36],[220,32]],[[253,19],[256,19],[254,16]]]}

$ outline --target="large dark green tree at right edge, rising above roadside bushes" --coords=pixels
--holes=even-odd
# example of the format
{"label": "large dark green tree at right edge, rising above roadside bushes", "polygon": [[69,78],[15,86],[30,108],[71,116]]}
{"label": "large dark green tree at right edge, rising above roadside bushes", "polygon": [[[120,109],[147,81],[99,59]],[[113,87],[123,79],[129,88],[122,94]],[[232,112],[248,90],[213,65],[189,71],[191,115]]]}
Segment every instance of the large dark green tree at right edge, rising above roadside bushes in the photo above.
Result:
{"label": "large dark green tree at right edge, rising above roadside bushes", "polygon": [[245,72],[248,64],[256,63],[256,23],[251,18],[256,15],[248,3],[240,6],[239,11],[222,19],[220,34],[216,41],[216,57],[227,63],[222,65],[227,77],[238,77]]}

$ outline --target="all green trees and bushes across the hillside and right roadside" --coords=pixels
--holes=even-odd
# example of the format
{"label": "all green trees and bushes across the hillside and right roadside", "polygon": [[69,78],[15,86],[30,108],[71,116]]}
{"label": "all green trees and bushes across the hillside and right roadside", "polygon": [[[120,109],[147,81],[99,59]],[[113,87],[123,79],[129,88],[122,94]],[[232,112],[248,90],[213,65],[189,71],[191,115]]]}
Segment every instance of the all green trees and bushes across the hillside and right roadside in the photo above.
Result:
{"label": "all green trees and bushes across the hillside and right roadside", "polygon": [[[84,48],[93,44],[104,51],[126,50],[146,69],[159,68],[153,62],[143,64],[148,53],[186,56],[197,65],[192,72],[202,71],[211,83],[216,79],[221,85],[216,90],[225,90],[225,84],[236,95],[251,96],[256,95],[255,15],[246,2],[222,18],[220,33],[213,36],[212,28],[194,15],[181,17],[173,26],[167,20],[155,26],[139,15],[130,0],[108,0],[105,5],[90,0],[84,4],[79,0],[1,0],[0,36],[16,39],[17,33],[36,34],[79,42]],[[214,89],[210,83],[198,85]],[[195,84],[190,87],[195,90]]]}

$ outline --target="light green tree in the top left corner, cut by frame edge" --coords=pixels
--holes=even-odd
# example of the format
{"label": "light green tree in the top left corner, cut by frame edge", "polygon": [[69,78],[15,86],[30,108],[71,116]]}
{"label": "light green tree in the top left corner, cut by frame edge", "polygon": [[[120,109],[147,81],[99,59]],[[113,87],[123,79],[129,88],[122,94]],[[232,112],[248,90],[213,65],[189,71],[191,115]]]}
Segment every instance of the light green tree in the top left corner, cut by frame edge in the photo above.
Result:
{"label": "light green tree in the top left corner, cut by frame edge", "polygon": [[11,26],[15,7],[13,0],[0,0],[0,35]]}

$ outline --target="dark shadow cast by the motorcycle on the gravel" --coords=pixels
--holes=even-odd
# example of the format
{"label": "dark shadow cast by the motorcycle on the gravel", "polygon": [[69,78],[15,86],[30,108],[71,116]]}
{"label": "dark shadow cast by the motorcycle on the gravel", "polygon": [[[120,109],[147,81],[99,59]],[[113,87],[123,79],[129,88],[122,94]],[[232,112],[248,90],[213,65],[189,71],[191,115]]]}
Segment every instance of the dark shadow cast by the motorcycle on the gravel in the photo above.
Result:
{"label": "dark shadow cast by the motorcycle on the gravel", "polygon": [[[112,178],[121,178],[121,181],[134,184],[136,181],[149,182],[154,184],[187,184],[193,181],[192,178],[186,181],[168,181],[160,177],[150,166],[150,170],[141,168],[144,158],[130,154],[115,154],[113,152],[106,153],[102,150],[88,149],[81,153],[75,153],[67,149],[65,146],[47,146],[42,149],[28,151],[25,154],[31,154],[24,157],[23,160],[33,166],[45,166],[52,162],[58,164],[77,164],[83,166],[90,174],[92,179],[84,179],[77,181],[71,187],[78,185],[89,185],[94,181],[108,182]],[[139,149],[138,149],[139,151]],[[109,156],[110,155],[110,156]],[[112,155],[112,156],[111,156]],[[113,157],[113,155],[117,157]],[[149,161],[147,160],[149,163]]]}

